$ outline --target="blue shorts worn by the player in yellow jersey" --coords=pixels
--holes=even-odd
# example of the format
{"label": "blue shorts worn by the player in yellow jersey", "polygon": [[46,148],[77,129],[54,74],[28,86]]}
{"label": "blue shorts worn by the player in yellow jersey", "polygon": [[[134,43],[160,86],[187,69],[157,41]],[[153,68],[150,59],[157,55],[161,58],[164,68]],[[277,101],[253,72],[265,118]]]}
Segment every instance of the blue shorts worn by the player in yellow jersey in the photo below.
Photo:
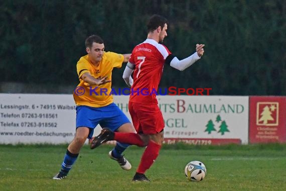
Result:
{"label": "blue shorts worn by the player in yellow jersey", "polygon": [[107,127],[111,131],[116,131],[125,123],[130,123],[130,121],[114,103],[100,108],[89,106],[76,107],[76,128],[88,127],[88,139],[92,138],[94,128],[98,124],[102,128]]}

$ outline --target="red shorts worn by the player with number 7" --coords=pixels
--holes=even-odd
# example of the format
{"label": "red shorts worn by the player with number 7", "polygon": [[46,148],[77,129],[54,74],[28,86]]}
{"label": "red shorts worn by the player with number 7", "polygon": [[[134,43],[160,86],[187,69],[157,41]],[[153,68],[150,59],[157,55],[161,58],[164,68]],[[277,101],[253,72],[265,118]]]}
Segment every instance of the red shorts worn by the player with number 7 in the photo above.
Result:
{"label": "red shorts worn by the player with number 7", "polygon": [[137,133],[157,134],[165,127],[162,112],[157,104],[129,102],[128,110]]}

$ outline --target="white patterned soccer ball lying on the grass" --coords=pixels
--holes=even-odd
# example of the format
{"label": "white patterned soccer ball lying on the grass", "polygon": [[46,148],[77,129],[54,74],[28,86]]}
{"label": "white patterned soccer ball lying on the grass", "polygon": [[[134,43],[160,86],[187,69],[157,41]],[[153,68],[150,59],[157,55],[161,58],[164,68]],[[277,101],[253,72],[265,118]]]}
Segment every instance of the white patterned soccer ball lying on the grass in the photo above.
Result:
{"label": "white patterned soccer ball lying on the grass", "polygon": [[185,175],[190,181],[201,181],[206,174],[206,166],[200,161],[191,161],[185,167]]}

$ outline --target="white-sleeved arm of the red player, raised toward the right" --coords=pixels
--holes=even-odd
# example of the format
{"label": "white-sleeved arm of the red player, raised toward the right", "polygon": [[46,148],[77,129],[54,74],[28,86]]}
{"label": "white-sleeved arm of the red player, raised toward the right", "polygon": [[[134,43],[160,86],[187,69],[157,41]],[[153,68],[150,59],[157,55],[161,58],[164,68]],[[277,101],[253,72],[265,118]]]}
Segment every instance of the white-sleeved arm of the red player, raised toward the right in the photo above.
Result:
{"label": "white-sleeved arm of the red player, raised toward the right", "polygon": [[172,66],[173,68],[176,68],[180,71],[183,71],[185,70],[186,68],[190,67],[193,63],[195,63],[197,60],[199,60],[203,54],[204,54],[204,47],[205,45],[204,44],[197,44],[196,45],[196,52],[194,54],[192,54],[191,56],[183,59],[183,60],[179,60],[177,57],[175,56],[172,56],[172,55],[169,55],[167,58],[166,58],[166,61],[168,60],[171,60],[169,61],[170,62],[170,66]]}

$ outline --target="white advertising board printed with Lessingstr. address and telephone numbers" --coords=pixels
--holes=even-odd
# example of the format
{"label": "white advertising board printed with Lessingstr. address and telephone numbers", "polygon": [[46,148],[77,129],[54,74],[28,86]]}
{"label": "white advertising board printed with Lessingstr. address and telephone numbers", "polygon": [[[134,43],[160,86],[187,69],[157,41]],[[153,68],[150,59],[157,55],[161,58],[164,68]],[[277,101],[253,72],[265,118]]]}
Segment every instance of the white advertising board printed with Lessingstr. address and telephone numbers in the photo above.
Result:
{"label": "white advertising board printed with Lessingstr. address and telephone numbers", "polygon": [[0,143],[68,143],[75,104],[67,94],[0,94]]}

